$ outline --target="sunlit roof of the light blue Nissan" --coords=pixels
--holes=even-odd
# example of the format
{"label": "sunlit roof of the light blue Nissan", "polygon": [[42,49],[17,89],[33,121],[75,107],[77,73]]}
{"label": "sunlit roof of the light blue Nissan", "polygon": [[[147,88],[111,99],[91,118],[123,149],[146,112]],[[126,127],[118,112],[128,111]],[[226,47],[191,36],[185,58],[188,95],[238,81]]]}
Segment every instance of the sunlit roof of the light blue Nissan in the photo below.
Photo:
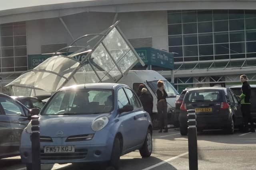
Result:
{"label": "sunlit roof of the light blue Nissan", "polygon": [[118,84],[118,83],[89,83],[89,84],[78,84],[68,87],[63,87],[59,91],[69,90],[69,89],[112,89],[115,90],[120,86],[126,86],[125,84]]}

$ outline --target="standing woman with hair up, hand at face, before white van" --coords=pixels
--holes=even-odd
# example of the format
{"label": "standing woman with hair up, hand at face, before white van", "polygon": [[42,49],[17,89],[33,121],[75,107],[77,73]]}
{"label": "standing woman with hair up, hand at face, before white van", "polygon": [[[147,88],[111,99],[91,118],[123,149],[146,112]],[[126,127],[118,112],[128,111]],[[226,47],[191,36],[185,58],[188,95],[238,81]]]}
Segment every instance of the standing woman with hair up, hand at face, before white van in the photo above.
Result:
{"label": "standing woman with hair up, hand at face, before white van", "polygon": [[164,82],[162,80],[159,80],[157,82],[157,87],[158,89],[156,90],[156,96],[157,96],[157,112],[159,116],[159,127],[160,127],[159,133],[162,132],[162,129],[164,129],[164,132],[168,132],[167,102],[166,102],[166,97],[168,95],[164,90]]}

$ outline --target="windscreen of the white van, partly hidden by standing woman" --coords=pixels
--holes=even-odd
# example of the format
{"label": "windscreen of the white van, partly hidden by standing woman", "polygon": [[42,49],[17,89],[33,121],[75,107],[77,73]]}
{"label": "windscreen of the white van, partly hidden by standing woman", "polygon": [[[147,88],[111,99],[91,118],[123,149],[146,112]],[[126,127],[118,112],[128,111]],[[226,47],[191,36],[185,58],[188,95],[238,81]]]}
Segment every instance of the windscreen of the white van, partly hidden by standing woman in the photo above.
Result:
{"label": "windscreen of the white van, partly hidden by standing woman", "polygon": [[[153,92],[156,92],[157,90],[157,82],[158,81],[150,81],[147,82],[148,86],[151,88],[151,90]],[[167,80],[164,80],[164,90],[166,91],[168,97],[176,97],[176,95],[178,95],[179,93],[177,92],[177,90],[172,86],[172,84],[170,84],[170,82],[168,82]]]}

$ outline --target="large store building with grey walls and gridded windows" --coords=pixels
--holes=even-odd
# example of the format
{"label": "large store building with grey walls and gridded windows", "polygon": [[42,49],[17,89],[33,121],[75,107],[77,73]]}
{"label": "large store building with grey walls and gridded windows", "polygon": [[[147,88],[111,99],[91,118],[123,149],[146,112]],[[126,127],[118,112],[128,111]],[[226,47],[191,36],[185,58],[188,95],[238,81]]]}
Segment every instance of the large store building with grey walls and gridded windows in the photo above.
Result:
{"label": "large store building with grey walls and gridded windows", "polygon": [[178,91],[240,84],[240,74],[254,83],[254,9],[255,0],[7,2],[0,7],[1,86],[77,37],[99,33],[115,20],[134,47],[174,53],[174,80],[169,70],[158,70]]}

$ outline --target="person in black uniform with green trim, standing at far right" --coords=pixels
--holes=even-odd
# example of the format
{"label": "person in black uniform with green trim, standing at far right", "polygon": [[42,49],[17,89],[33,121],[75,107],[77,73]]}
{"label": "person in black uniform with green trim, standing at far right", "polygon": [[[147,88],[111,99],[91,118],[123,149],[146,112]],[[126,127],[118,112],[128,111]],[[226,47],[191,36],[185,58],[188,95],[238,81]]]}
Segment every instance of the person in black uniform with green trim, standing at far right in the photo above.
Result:
{"label": "person in black uniform with green trim, standing at far right", "polygon": [[241,111],[244,119],[244,130],[246,132],[249,131],[248,122],[250,122],[250,132],[255,132],[252,115],[250,112],[251,87],[250,84],[247,82],[247,76],[245,74],[240,76],[240,81],[242,82],[242,94],[239,96],[239,98],[241,100]]}

